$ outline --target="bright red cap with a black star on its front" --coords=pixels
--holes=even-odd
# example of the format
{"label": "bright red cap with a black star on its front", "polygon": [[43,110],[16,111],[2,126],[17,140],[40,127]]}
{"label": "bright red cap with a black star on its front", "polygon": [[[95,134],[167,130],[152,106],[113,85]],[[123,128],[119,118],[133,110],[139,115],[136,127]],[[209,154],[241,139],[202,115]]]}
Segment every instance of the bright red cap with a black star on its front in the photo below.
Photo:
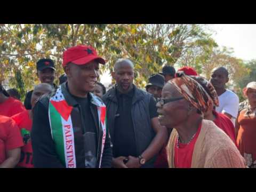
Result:
{"label": "bright red cap with a black star on its front", "polygon": [[76,65],[85,65],[93,60],[98,60],[103,65],[106,63],[104,59],[98,56],[92,46],[78,45],[70,47],[63,52],[62,66],[66,66],[69,62],[73,62]]}

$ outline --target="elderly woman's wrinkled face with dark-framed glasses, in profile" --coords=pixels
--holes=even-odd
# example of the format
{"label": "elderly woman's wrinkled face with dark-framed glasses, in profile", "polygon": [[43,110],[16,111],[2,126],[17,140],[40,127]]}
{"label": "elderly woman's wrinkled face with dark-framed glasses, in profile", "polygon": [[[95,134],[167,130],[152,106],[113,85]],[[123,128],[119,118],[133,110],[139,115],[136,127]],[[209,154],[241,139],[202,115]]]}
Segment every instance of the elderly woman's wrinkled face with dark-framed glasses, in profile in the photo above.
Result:
{"label": "elderly woman's wrinkled face with dark-framed glasses, in profile", "polygon": [[163,87],[162,100],[156,106],[159,123],[168,129],[182,124],[188,118],[189,102],[170,83]]}

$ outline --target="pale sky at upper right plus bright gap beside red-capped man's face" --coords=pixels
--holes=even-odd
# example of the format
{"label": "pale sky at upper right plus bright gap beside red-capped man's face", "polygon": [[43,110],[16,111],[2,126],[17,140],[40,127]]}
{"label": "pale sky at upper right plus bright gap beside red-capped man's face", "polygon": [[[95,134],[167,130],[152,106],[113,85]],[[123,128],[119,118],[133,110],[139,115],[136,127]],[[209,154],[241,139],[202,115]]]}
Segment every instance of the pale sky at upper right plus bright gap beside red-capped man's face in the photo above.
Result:
{"label": "pale sky at upper right plus bright gap beside red-capped man's face", "polygon": [[[211,24],[215,33],[213,39],[219,46],[233,48],[234,57],[245,61],[256,59],[256,24]],[[101,83],[105,86],[111,83],[111,77],[104,73]]]}

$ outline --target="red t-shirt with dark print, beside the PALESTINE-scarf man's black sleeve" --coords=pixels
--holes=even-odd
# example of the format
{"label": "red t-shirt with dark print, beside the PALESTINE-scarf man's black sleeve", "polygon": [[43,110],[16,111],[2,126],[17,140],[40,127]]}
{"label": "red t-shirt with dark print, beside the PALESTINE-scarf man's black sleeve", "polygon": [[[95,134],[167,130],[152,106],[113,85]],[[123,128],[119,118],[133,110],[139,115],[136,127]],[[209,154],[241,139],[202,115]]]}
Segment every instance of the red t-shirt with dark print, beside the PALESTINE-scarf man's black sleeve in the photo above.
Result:
{"label": "red t-shirt with dark print, beside the PALESTINE-scarf man's black sleeve", "polygon": [[24,146],[21,148],[20,162],[17,166],[27,168],[34,167],[32,145],[30,140],[32,120],[29,117],[29,110],[22,111],[21,113],[12,116],[12,119],[18,125],[24,143]]}

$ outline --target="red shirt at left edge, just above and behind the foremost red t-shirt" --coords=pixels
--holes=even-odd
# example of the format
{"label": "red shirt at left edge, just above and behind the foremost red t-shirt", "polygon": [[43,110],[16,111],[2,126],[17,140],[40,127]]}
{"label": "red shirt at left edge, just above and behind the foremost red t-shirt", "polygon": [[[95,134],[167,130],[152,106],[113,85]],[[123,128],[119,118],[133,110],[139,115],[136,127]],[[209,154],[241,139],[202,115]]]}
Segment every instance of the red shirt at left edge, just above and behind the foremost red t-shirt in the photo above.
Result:
{"label": "red shirt at left edge, just above and behind the foremost red t-shirt", "polygon": [[11,117],[26,110],[22,102],[12,97],[9,97],[3,103],[0,103],[0,115]]}

